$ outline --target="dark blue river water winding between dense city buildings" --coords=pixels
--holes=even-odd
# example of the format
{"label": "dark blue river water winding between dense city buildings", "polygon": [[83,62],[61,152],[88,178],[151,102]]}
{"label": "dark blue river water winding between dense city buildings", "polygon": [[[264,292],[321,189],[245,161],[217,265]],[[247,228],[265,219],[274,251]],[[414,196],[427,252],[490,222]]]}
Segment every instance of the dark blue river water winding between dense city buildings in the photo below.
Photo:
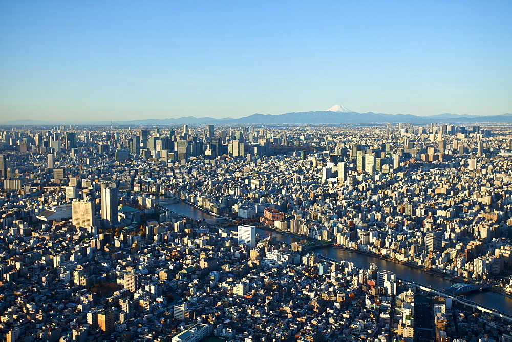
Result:
{"label": "dark blue river water winding between dense city buildings", "polygon": [[[188,216],[196,220],[214,218],[214,216],[204,213],[201,210],[191,207],[190,205],[183,202],[179,202],[176,204],[163,204],[163,206],[171,211],[180,213],[181,215]],[[271,231],[262,229],[257,229],[256,232],[261,237],[268,237],[273,233]],[[292,242],[295,241],[305,241],[294,237],[284,236],[281,234],[278,234],[278,240],[286,242],[288,244],[291,244]],[[351,261],[354,263],[356,267],[361,269],[368,269],[370,268],[371,263],[375,263],[375,265],[377,265],[377,267],[380,270],[391,271],[401,279],[410,280],[439,290],[449,288],[450,286],[455,284],[455,282],[452,280],[444,279],[443,277],[432,275],[422,270],[409,267],[407,265],[394,263],[388,260],[373,258],[368,255],[359,254],[355,252],[348,252],[345,250],[332,248],[330,246],[317,248],[314,250],[314,252],[321,253],[324,257],[330,259]],[[505,297],[499,293],[488,290],[476,291],[466,295],[465,297],[470,301],[480,303],[486,307],[493,308],[502,313],[509,315],[512,314],[512,298]]]}

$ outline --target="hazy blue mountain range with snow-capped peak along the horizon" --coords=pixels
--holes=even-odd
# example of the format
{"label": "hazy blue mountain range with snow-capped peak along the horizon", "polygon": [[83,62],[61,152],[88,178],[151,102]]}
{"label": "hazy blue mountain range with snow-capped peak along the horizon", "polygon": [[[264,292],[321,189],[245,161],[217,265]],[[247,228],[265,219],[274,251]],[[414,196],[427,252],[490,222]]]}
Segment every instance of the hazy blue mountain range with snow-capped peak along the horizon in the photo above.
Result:
{"label": "hazy blue mountain range with snow-capped peak along the horizon", "polygon": [[[285,114],[252,114],[243,118],[215,119],[210,117],[196,118],[183,116],[177,119],[140,119],[130,121],[112,121],[116,125],[174,125],[174,124],[310,124],[310,123],[512,123],[512,114],[501,115],[470,115],[470,114],[437,114],[417,116],[412,114],[357,113],[342,105],[334,105],[325,111],[292,112]],[[41,120],[9,120],[8,125],[50,125],[50,124],[98,124],[110,125],[111,121],[41,121]]]}

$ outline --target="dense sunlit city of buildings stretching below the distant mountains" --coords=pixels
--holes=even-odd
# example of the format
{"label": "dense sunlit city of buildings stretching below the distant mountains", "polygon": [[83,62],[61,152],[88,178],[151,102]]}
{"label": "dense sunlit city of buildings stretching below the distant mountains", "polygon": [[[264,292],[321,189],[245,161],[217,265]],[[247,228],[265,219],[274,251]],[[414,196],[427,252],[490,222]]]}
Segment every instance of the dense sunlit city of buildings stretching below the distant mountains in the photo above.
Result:
{"label": "dense sunlit city of buildings stretching below the distant mountains", "polygon": [[508,124],[4,127],[7,341],[509,341]]}

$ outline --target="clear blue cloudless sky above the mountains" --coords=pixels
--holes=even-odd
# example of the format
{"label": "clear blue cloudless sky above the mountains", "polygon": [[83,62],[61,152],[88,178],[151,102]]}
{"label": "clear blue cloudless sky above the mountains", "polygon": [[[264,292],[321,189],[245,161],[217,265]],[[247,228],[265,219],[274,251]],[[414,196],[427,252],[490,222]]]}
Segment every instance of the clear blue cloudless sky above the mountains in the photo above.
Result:
{"label": "clear blue cloudless sky above the mountains", "polygon": [[0,1],[0,121],[512,113],[512,1]]}

